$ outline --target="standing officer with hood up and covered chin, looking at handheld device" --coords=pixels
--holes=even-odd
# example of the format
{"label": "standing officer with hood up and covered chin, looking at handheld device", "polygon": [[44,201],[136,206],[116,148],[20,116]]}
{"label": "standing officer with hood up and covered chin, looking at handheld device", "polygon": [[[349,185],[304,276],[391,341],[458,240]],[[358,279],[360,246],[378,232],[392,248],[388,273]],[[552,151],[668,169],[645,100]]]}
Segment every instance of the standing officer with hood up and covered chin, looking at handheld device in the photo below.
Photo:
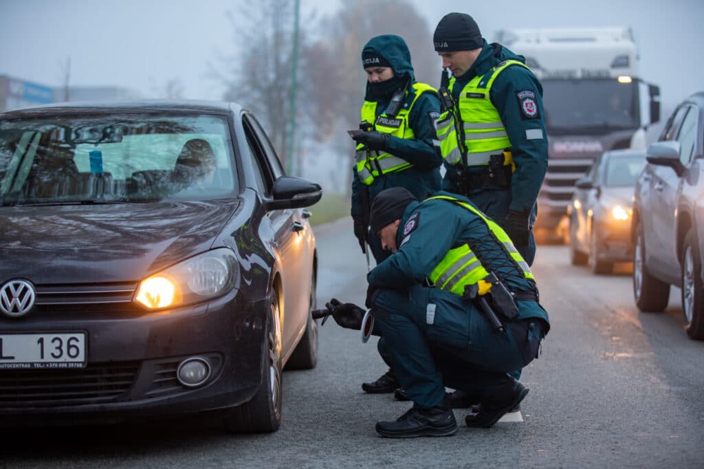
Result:
{"label": "standing officer with hood up and covered chin, looking at handheld device", "polygon": [[[351,215],[363,253],[369,244],[377,263],[388,256],[379,238],[368,231],[369,208],[389,187],[405,187],[425,199],[441,189],[442,158],[434,147],[435,120],[440,103],[433,87],[415,81],[406,42],[395,35],[373,37],[364,46],[362,64],[367,89],[356,140]],[[384,358],[384,342],[379,353]],[[388,363],[388,362],[387,362]],[[376,381],[363,383],[365,392],[394,392],[398,381],[389,370]]]}

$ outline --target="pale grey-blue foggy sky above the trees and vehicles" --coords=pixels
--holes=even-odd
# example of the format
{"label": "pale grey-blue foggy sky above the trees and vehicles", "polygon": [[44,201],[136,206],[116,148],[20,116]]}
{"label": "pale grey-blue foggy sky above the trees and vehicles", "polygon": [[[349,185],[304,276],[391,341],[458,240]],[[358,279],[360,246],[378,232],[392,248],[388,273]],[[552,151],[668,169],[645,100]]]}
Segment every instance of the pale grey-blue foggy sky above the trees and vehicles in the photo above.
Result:
{"label": "pale grey-blue foggy sky above the trees and vehicles", "polygon": [[[631,26],[640,75],[660,85],[664,103],[704,90],[701,0],[496,0],[473,8],[466,0],[412,1],[429,31],[444,14],[462,11],[489,40],[502,27]],[[254,2],[0,0],[0,75],[58,87],[70,56],[72,85],[129,87],[151,97],[178,80],[184,97],[220,99],[222,87],[209,71],[239,46],[224,12],[248,4]],[[338,7],[339,0],[301,0],[301,18]]]}

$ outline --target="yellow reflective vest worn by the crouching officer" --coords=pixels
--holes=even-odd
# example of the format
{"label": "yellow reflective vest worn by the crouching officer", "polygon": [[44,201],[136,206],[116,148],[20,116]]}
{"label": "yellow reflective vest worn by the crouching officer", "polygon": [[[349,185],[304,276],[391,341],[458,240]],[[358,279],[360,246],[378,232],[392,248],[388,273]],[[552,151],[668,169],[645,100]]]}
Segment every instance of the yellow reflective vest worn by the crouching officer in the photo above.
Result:
{"label": "yellow reflective vest worn by the crouching officer", "polygon": [[[501,242],[501,246],[506,254],[513,258],[513,261],[515,261],[518,267],[523,271],[523,276],[529,280],[535,281],[535,277],[528,263],[524,261],[515,246],[513,246],[511,239],[499,225],[494,223],[490,218],[487,218],[484,213],[454,197],[434,196],[426,200],[432,199],[451,201],[482,218],[486,225],[489,225],[489,230],[491,230],[498,241]],[[484,281],[486,275],[489,275],[489,272],[484,268],[481,261],[479,261],[477,255],[472,252],[469,244],[463,244],[462,246],[448,251],[442,261],[440,261],[440,263],[435,266],[432,273],[430,273],[429,279],[436,287],[460,296],[464,294],[466,285],[477,283],[479,284],[479,294],[482,295],[486,294],[491,289],[491,284]]]}

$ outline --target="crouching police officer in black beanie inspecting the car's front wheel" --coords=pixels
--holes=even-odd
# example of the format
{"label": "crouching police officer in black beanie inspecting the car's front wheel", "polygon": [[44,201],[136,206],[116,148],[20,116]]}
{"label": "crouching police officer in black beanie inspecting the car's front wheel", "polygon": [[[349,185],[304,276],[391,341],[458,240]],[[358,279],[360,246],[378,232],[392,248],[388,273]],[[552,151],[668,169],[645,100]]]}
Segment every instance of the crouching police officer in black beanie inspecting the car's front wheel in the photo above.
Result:
{"label": "crouching police officer in black beanie inspecting the car's front wheel", "polygon": [[[479,396],[481,410],[467,415],[467,426],[491,427],[528,393],[507,373],[536,358],[550,330],[527,263],[501,227],[456,194],[419,202],[401,187],[386,189],[370,222],[393,254],[367,275],[367,307],[413,401],[377,432],[454,434],[445,386]],[[327,307],[343,327],[360,327],[361,308],[337,300]]]}

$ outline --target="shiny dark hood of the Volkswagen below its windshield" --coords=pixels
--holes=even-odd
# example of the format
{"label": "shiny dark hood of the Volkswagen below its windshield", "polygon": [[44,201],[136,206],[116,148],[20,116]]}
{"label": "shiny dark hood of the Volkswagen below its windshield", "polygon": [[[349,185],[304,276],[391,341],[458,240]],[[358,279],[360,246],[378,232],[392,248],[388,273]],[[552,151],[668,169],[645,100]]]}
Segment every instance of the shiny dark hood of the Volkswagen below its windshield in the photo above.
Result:
{"label": "shiny dark hood of the Volkswagen below its windshield", "polygon": [[0,283],[132,282],[206,251],[240,206],[227,201],[0,209]]}

